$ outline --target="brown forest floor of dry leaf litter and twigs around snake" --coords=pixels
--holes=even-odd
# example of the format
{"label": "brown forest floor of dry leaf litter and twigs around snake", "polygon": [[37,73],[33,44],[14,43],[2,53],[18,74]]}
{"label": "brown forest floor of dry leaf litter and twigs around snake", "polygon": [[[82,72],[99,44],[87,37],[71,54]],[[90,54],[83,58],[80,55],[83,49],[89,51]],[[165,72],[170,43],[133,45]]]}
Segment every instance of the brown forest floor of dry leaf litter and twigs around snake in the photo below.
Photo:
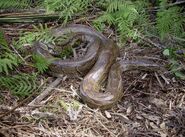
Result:
{"label": "brown forest floor of dry leaf litter and twigs around snake", "polygon": [[[4,25],[3,29],[11,41],[12,37],[18,37],[18,31],[28,30],[29,26]],[[110,31],[105,35],[108,36]],[[115,36],[112,37],[114,39]],[[145,45],[148,46],[127,43],[120,48],[121,58],[145,58],[164,66],[168,64],[161,49],[150,43]],[[42,77],[49,76],[41,76],[41,80]],[[138,70],[123,73],[122,77],[124,96],[116,106],[106,111],[91,109],[81,102],[75,94],[81,79],[49,77],[41,90],[52,91],[49,96],[39,105],[28,106],[36,97],[34,95],[3,116],[0,134],[5,137],[185,136],[185,81],[176,79],[168,71],[158,73]],[[1,108],[3,113],[21,102],[8,91],[1,94],[1,106],[6,106]],[[74,100],[79,103],[75,104]]]}

